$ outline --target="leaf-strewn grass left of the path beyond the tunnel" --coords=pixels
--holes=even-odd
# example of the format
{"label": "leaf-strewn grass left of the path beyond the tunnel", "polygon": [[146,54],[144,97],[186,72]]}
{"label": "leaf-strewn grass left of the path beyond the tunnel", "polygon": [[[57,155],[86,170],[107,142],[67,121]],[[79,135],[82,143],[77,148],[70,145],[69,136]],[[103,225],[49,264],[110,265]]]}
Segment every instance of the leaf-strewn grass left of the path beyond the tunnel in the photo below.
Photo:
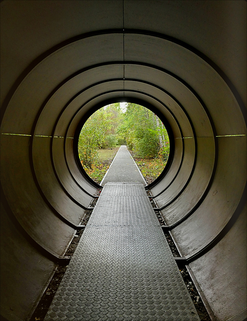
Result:
{"label": "leaf-strewn grass left of the path beyond the tunnel", "polygon": [[110,164],[117,154],[120,145],[116,147],[111,147],[111,149],[99,149],[99,162],[97,165],[92,165],[92,169],[84,167],[87,175],[92,178],[96,183],[100,184],[101,180],[105,176],[107,169],[109,169]]}

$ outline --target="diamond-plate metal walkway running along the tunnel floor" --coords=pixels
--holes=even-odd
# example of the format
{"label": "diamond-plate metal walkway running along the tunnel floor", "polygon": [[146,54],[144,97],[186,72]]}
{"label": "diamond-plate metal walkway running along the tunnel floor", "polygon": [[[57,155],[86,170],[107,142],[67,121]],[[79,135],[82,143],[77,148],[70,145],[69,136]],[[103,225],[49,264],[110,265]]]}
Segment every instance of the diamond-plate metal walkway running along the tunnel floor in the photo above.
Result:
{"label": "diamond-plate metal walkway running along the tunnel floor", "polygon": [[45,320],[199,320],[143,184],[105,184]]}

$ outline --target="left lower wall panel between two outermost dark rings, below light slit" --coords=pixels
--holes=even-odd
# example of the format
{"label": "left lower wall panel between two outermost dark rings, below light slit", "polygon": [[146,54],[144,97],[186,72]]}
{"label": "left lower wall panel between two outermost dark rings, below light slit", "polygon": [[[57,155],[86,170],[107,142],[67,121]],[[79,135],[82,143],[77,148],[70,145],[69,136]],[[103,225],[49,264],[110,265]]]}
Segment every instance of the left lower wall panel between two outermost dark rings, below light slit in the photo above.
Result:
{"label": "left lower wall panel between two outermost dark rings, below light slit", "polygon": [[74,230],[49,208],[35,184],[29,162],[30,137],[2,136],[1,181],[14,216],[38,244],[63,255]]}

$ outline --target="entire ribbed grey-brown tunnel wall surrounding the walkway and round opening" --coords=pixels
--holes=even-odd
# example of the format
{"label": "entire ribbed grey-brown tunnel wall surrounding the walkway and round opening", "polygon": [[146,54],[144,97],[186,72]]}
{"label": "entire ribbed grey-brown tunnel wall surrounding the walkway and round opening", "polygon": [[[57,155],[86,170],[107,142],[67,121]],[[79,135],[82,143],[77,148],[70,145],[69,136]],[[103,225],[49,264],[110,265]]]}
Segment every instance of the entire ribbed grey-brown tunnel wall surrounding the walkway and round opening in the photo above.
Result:
{"label": "entire ribbed grey-brown tunnel wall surrounding the walkway and round opening", "polygon": [[211,318],[246,319],[246,1],[1,1],[1,318],[29,320],[97,184],[82,122],[152,109],[149,188]]}

